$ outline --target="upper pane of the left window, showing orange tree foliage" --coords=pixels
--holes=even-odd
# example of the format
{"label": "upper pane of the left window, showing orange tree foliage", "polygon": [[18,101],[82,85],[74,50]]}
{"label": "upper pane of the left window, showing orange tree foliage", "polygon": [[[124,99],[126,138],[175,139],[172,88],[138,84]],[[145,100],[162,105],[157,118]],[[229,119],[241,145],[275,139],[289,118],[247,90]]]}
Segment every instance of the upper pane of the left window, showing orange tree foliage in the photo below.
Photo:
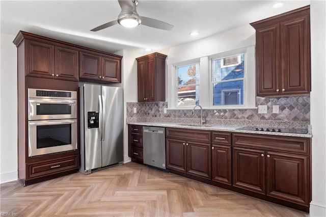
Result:
{"label": "upper pane of the left window, showing orange tree foliage", "polygon": [[199,84],[199,64],[178,67],[178,86]]}

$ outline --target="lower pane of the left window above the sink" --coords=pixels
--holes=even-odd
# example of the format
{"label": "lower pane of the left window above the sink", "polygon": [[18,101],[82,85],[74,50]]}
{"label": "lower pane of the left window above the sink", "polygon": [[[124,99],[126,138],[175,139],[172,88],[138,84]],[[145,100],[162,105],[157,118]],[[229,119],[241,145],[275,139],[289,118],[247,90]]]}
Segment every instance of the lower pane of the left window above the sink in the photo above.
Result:
{"label": "lower pane of the left window above the sink", "polygon": [[199,86],[188,86],[177,88],[178,91],[178,106],[198,105],[198,89]]}

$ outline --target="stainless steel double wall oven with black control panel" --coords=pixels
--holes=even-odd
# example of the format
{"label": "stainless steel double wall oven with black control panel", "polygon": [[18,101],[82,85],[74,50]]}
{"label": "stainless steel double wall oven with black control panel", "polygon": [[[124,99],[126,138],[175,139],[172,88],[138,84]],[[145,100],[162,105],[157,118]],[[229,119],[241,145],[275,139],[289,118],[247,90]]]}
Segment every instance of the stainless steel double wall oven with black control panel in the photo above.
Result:
{"label": "stainless steel double wall oven with black control panel", "polygon": [[28,89],[29,157],[77,149],[77,92]]}

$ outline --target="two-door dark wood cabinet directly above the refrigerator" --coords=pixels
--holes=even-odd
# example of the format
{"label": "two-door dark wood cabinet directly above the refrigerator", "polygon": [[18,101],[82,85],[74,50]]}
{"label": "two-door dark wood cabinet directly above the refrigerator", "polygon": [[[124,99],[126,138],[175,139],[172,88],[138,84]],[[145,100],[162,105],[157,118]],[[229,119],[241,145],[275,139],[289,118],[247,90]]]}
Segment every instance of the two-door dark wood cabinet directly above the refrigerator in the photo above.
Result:
{"label": "two-door dark wood cabinet directly above the refrigerator", "polygon": [[79,52],[80,80],[121,83],[122,57],[95,51]]}

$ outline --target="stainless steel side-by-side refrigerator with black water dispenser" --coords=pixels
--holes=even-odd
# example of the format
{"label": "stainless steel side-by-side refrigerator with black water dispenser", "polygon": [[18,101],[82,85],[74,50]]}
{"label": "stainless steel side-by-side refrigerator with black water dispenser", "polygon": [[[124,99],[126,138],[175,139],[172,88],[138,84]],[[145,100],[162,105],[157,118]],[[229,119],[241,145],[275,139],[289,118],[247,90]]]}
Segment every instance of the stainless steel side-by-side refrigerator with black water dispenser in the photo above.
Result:
{"label": "stainless steel side-by-side refrigerator with black water dispenser", "polygon": [[123,161],[123,89],[79,87],[80,168],[92,171]]}

